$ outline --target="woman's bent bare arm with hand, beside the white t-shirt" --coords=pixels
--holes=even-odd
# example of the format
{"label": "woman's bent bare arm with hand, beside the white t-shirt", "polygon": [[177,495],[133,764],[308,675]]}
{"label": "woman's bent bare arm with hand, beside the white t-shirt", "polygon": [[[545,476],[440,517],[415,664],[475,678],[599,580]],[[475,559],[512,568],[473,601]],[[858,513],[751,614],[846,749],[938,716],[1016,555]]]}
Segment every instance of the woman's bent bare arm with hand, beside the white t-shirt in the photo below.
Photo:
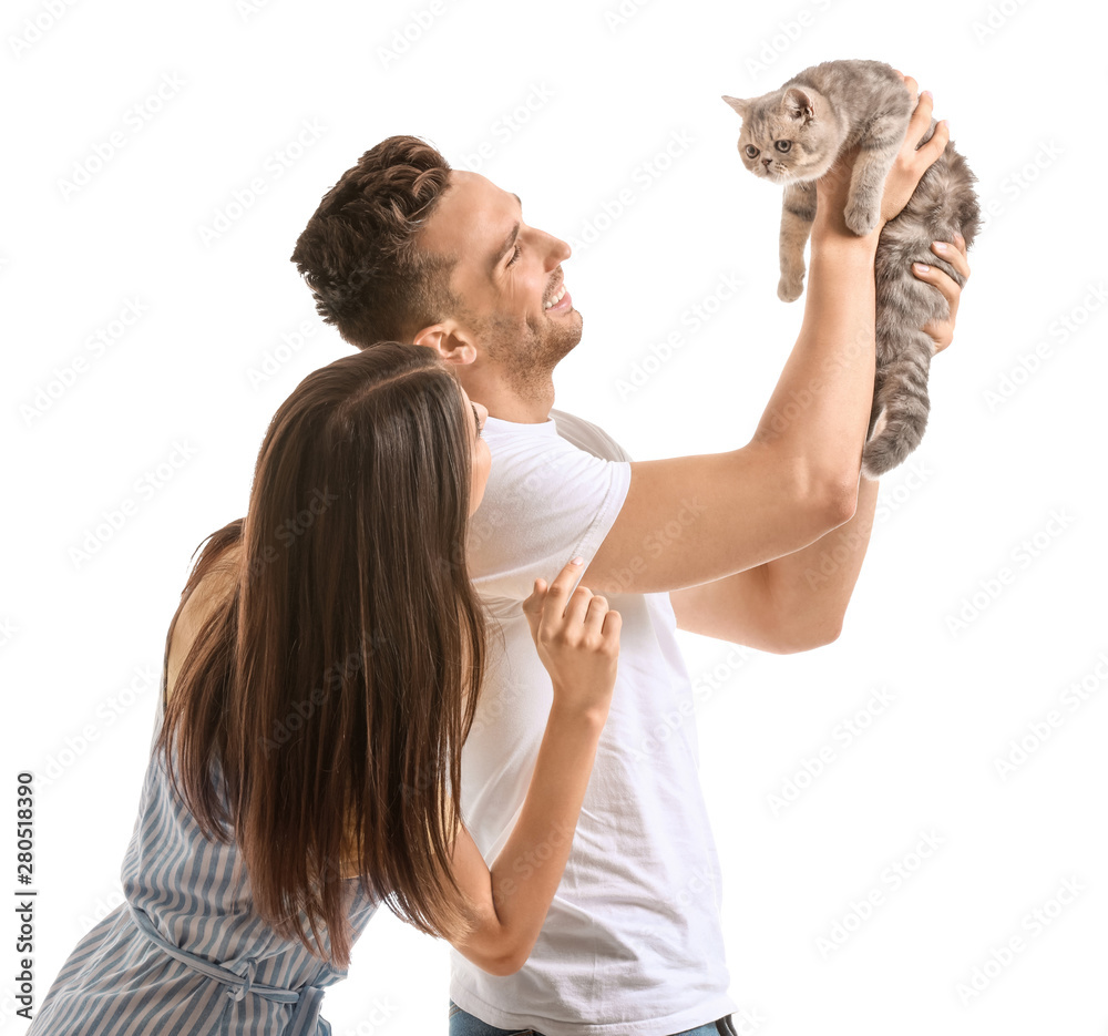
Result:
{"label": "woman's bent bare arm with hand, beside the white t-shirt", "polygon": [[536,579],[523,603],[554,702],[515,828],[491,869],[464,828],[454,843],[451,871],[473,924],[454,947],[493,975],[523,966],[546,920],[612,700],[620,616],[583,586],[568,597],[579,574],[566,565],[548,591]]}

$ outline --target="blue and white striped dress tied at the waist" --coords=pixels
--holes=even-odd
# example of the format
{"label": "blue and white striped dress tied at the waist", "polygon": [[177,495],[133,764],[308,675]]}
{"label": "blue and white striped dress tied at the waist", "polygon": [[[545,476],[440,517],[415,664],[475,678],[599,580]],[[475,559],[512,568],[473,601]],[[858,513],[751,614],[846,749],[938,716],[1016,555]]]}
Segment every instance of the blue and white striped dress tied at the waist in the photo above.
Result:
{"label": "blue and white striped dress tied at the waist", "polygon": [[[346,971],[277,935],[234,843],[205,839],[152,755],[123,860],[126,902],[78,944],[28,1036],[326,1036],[324,987]],[[357,937],[377,909],[353,879]],[[329,948],[329,947],[325,947]]]}

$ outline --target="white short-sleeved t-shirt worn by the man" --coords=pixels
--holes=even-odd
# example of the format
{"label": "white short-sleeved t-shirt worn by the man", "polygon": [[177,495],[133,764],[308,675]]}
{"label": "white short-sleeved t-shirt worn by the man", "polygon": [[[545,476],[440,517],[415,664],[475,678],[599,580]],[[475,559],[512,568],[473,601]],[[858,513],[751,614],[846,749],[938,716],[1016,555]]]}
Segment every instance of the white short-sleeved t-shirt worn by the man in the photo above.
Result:
{"label": "white short-sleeved t-shirt worn by the man", "polygon": [[[543,424],[490,418],[484,435],[492,471],[468,557],[490,638],[462,752],[462,814],[492,863],[523,807],[552,700],[520,604],[536,577],[548,583],[576,554],[592,560],[627,495],[630,459],[596,425],[557,410]],[[693,686],[669,595],[605,597],[623,618],[615,691],[535,948],[503,977],[451,951],[451,999],[499,1028],[667,1036],[736,1007]],[[521,874],[527,865],[515,864]]]}

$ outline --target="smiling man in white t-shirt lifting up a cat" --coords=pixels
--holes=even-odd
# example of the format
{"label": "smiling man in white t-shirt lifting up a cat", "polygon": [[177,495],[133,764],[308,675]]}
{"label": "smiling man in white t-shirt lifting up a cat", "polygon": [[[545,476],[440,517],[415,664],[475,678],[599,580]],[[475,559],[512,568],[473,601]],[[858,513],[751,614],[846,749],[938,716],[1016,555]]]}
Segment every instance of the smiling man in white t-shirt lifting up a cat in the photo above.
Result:
{"label": "smiling man in white t-shirt lifting up a cat", "polygon": [[[907,141],[923,136],[931,110],[925,94]],[[919,152],[905,145],[883,222],[947,139],[940,124]],[[719,869],[674,630],[778,653],[839,634],[878,491],[860,479],[860,457],[881,226],[864,238],[847,229],[849,172],[819,185],[803,326],[752,440],[699,457],[632,462],[595,425],[552,410],[552,372],[582,329],[562,268],[570,248],[527,226],[514,194],[450,170],[428,144],[390,137],[367,152],[297,242],[293,259],[347,341],[434,349],[489,409],[492,472],[468,564],[493,622],[462,788],[486,860],[511,832],[551,702],[520,603],[581,554],[581,585],[623,616],[612,709],[543,932],[514,975],[452,954],[454,1036],[733,1032]],[[964,242],[938,254],[968,276]],[[934,266],[917,276],[950,301],[951,318],[926,328],[937,350],[953,337],[960,289]],[[684,535],[659,547],[673,521]],[[804,574],[825,553],[839,565],[812,588]],[[653,738],[675,714],[673,736]],[[513,861],[520,873],[541,865]],[[510,896],[511,883],[495,894]]]}

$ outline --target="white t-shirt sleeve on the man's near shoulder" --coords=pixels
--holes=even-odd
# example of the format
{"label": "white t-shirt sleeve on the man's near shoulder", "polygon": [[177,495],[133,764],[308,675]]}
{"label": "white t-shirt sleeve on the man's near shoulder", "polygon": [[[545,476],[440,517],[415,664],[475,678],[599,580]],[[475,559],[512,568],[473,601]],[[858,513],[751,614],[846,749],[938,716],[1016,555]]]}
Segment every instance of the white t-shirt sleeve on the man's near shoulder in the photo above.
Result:
{"label": "white t-shirt sleeve on the man's near shoulder", "polygon": [[466,542],[482,595],[523,601],[579,554],[592,560],[630,485],[630,464],[557,435],[490,437],[492,471]]}

